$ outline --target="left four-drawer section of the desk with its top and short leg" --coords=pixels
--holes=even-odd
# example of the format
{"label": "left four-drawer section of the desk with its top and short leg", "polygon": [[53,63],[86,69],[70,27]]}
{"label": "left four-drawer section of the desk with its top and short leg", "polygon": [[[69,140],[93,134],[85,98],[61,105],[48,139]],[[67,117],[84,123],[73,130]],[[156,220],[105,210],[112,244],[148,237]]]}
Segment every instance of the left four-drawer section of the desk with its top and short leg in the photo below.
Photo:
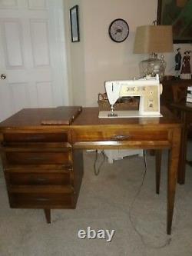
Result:
{"label": "left four-drawer section of the desk with its top and short leg", "polygon": [[51,209],[76,207],[83,157],[72,150],[68,127],[80,111],[28,109],[3,122],[0,150],[12,208],[42,208],[50,223]]}

